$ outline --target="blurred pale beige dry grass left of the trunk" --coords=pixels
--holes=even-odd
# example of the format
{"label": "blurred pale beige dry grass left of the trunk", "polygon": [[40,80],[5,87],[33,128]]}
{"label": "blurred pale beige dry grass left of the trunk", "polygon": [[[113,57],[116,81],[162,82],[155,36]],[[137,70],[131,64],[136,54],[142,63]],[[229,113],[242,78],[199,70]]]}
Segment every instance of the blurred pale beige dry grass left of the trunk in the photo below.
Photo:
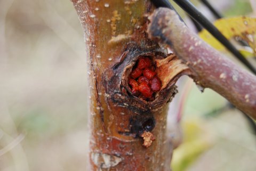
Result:
{"label": "blurred pale beige dry grass left of the trunk", "polygon": [[0,170],[84,170],[87,72],[72,4],[0,6]]}

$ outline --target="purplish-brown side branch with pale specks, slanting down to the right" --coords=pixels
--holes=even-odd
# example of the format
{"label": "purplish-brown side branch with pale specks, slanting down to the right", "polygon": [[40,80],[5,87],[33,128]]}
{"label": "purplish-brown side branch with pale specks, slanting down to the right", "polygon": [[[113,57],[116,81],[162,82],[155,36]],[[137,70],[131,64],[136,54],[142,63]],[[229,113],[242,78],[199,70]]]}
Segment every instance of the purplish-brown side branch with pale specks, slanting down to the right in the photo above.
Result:
{"label": "purplish-brown side branch with pale specks, slanting down to the right", "polygon": [[190,31],[174,11],[160,8],[149,18],[150,38],[171,47],[191,70],[196,84],[211,88],[256,119],[256,77]]}

